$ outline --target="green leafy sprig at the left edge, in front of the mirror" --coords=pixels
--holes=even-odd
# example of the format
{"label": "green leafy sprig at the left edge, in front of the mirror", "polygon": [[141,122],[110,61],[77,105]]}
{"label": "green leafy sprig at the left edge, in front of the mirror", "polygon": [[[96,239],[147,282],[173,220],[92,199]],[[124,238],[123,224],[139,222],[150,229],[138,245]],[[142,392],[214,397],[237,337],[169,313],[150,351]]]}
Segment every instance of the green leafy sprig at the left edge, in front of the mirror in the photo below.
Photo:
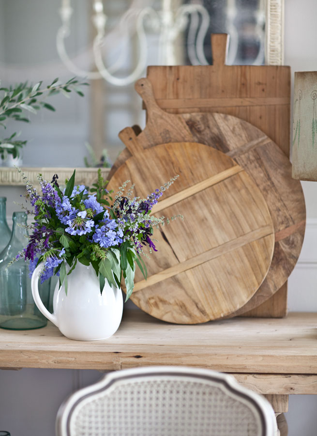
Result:
{"label": "green leafy sprig at the left edge, in front of the mirror", "polygon": [[[58,78],[54,79],[50,85],[42,87],[42,81],[35,85],[28,82],[19,83],[9,88],[0,88],[0,125],[6,128],[5,123],[8,119],[29,123],[26,116],[27,112],[36,114],[38,110],[45,108],[55,111],[55,108],[46,103],[45,98],[62,93],[69,98],[72,91],[84,96],[80,86],[88,85],[80,82],[76,78],[69,79],[66,83],[61,83]],[[18,135],[13,133],[9,138],[0,139],[0,156],[5,158],[6,154],[11,154],[14,158],[19,157],[19,151],[27,143],[27,140],[13,140]]]}

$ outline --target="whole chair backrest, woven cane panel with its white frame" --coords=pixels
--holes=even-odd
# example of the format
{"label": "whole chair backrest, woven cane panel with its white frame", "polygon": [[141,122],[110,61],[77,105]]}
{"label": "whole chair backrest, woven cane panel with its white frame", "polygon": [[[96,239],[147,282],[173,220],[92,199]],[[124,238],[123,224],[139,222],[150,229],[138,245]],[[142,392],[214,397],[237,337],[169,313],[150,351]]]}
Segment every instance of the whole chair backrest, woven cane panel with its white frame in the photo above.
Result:
{"label": "whole chair backrest, woven cane panel with its white frame", "polygon": [[274,436],[269,402],[233,376],[188,367],[106,374],[60,406],[57,436]]}

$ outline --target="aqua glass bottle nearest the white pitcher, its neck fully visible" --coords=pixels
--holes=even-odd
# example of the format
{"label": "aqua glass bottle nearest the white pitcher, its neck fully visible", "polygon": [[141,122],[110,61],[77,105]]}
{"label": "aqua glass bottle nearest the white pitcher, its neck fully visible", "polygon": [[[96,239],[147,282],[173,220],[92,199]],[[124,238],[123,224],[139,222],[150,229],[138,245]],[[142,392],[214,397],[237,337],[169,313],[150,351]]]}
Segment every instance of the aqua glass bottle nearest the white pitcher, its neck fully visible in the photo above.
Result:
{"label": "aqua glass bottle nearest the white pitcher, its neck fully visible", "polygon": [[[29,262],[22,258],[7,268],[28,243],[26,224],[26,213],[14,212],[10,241],[0,253],[0,327],[11,330],[39,328],[47,324],[33,301]],[[42,287],[41,298],[48,306],[49,286]]]}

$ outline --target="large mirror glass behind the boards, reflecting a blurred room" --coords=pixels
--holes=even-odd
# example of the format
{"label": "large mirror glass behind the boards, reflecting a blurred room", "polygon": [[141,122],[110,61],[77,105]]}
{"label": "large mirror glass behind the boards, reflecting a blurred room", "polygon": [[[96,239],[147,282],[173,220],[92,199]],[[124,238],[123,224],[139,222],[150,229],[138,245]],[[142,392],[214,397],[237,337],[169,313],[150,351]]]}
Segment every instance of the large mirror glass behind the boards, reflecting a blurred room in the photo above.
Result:
{"label": "large mirror glass behind the boards, reflecting a blurred room", "polygon": [[[194,4],[208,12],[208,22],[204,21],[202,14],[199,15],[199,10],[191,15],[188,13]],[[115,77],[131,74],[137,63],[137,14],[146,7],[156,11],[156,17],[153,12],[148,12],[142,22],[148,47],[146,64],[162,63],[158,54],[162,40],[158,31],[162,24],[158,17],[162,12],[157,14],[157,11],[170,7],[174,19],[181,7],[187,8],[180,19],[182,30],[174,32],[173,47],[166,48],[166,52],[173,50],[173,62],[190,64],[193,45],[198,45],[200,38],[203,48],[196,62],[204,63],[206,59],[211,63],[211,32],[227,32],[230,35],[228,64],[282,63],[283,0],[0,0],[1,86],[26,80],[33,84],[43,80],[43,86],[46,86],[57,77],[62,82],[74,77],[74,72],[61,61],[56,47],[61,6],[73,9],[69,35],[64,35],[64,47],[60,50],[64,49],[69,62],[75,65],[75,71],[78,68],[96,71],[92,41],[97,31],[91,17],[96,16],[98,8],[103,8],[107,16],[101,53],[103,61],[112,65],[113,72],[110,73]],[[122,16],[125,21],[122,21]],[[199,29],[204,26],[205,36],[199,36]],[[145,75],[144,67],[138,77]],[[87,167],[110,166],[123,149],[118,138],[122,128],[135,124],[144,127],[145,113],[133,83],[116,86],[104,78],[88,81],[91,86],[80,87],[84,97],[75,92],[69,93],[70,98],[62,94],[49,96],[45,101],[54,106],[54,112],[45,108],[36,114],[25,111],[30,123],[11,120],[6,130],[0,126],[1,140],[13,132],[21,132],[19,139],[28,141],[23,147],[22,166],[28,167],[30,174],[32,171],[37,173],[39,167],[52,168],[53,172],[55,169],[62,171],[60,167],[76,167],[82,168],[86,176],[94,174],[95,170]],[[0,183],[20,184],[19,178],[12,175],[15,170],[4,168],[12,162],[1,161],[1,164]],[[32,177],[30,179],[32,181]]]}

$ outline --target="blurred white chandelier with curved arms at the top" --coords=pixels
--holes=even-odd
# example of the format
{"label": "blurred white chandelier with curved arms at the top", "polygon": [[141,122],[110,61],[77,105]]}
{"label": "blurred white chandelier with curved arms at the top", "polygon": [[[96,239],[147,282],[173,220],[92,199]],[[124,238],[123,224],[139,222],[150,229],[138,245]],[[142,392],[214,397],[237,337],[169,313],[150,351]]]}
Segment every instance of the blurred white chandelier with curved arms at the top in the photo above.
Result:
{"label": "blurred white chandelier with curved arms at the top", "polygon": [[[158,62],[160,65],[175,65],[174,53],[176,38],[184,31],[189,23],[187,45],[188,58],[193,65],[207,64],[204,55],[203,42],[208,31],[209,13],[201,4],[184,4],[174,13],[172,0],[162,0],[162,8],[155,11],[152,7],[137,7],[138,0],[134,0],[130,8],[122,15],[119,30],[124,41],[125,50],[110,67],[106,67],[102,47],[105,44],[107,16],[104,12],[102,0],[93,0],[92,22],[96,29],[92,50],[94,63],[98,71],[85,71],[78,68],[70,59],[65,48],[65,39],[70,35],[70,21],[73,14],[71,0],[61,0],[60,17],[61,27],[57,32],[57,51],[62,62],[76,76],[89,79],[104,78],[116,86],[125,86],[133,83],[144,71],[148,59],[146,29],[159,33]],[[135,69],[128,76],[116,77],[114,73],[120,69],[127,56],[127,47],[131,39],[131,30],[136,32],[139,57]]]}

